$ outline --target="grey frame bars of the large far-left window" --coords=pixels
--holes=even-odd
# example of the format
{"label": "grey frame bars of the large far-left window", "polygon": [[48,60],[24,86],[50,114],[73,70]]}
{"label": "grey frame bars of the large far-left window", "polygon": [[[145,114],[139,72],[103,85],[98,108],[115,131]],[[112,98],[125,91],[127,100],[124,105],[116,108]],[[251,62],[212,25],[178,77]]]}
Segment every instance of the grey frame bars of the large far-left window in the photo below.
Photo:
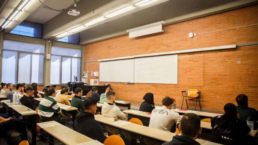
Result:
{"label": "grey frame bars of the large far-left window", "polygon": [[[26,37],[26,36],[25,36]],[[29,37],[29,36],[27,36]],[[35,37],[34,37],[35,38]],[[6,41],[13,41],[13,40],[8,40],[8,39],[3,39],[3,40],[6,40]],[[28,43],[28,42],[21,42],[21,41],[13,41],[13,42],[19,42],[19,43]],[[28,43],[28,44],[36,44],[36,43]],[[13,51],[13,52],[17,52],[17,60],[16,60],[16,63],[17,63],[17,68],[15,68],[17,71],[15,72],[15,83],[13,85],[17,85],[18,84],[18,74],[19,74],[19,58],[20,58],[20,53],[26,53],[26,54],[30,54],[30,83],[29,84],[26,84],[26,85],[31,85],[31,74],[32,74],[32,55],[33,54],[36,54],[36,55],[43,55],[44,56],[44,60],[43,60],[43,82],[42,83],[37,83],[39,86],[43,85],[44,86],[44,83],[45,83],[45,55],[46,55],[46,45],[43,45],[43,44],[36,44],[36,45],[42,45],[45,47],[45,53],[35,53],[35,52],[27,52],[27,51],[17,51],[17,50],[9,50],[9,49],[4,49],[3,48],[3,52],[6,50],[6,51]],[[1,70],[2,71],[2,70]]]}

